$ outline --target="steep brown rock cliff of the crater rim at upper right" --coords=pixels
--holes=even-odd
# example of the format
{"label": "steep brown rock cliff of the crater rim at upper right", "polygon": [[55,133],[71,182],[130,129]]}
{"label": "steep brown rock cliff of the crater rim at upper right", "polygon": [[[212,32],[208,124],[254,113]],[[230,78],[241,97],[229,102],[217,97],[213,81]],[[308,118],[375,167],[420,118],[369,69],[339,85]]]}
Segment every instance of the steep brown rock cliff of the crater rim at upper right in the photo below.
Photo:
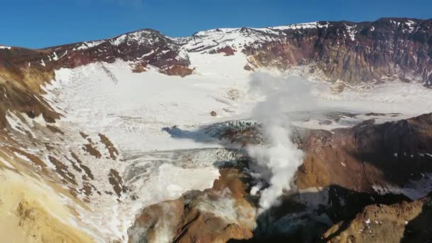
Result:
{"label": "steep brown rock cliff of the crater rim at upper right", "polygon": [[316,65],[330,80],[399,78],[432,84],[432,19],[380,18],[374,22],[319,22],[286,29],[277,41],[247,47],[256,66],[285,70]]}

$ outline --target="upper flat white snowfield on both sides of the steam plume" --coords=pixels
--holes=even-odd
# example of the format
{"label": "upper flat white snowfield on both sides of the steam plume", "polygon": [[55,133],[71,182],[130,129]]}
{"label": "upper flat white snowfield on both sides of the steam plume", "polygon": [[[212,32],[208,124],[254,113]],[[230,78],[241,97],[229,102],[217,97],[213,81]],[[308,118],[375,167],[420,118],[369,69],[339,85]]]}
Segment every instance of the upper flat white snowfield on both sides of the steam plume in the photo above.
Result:
{"label": "upper flat white snowfield on both sides of the steam plume", "polygon": [[[59,95],[55,106],[67,113],[65,121],[102,132],[124,149],[151,151],[161,147],[167,150],[208,147],[194,141],[177,141],[161,129],[175,125],[196,129],[233,117],[248,118],[248,111],[256,101],[249,100],[246,95],[249,72],[243,70],[247,63],[245,55],[189,55],[191,67],[196,69],[193,75],[183,78],[163,75],[153,68],[134,73],[129,64],[121,60],[103,64],[119,80],[118,83],[103,71],[101,63],[58,70],[55,92]],[[320,109],[402,113],[395,118],[383,117],[382,121],[431,112],[428,108],[432,107],[432,101],[428,99],[430,90],[421,85],[392,82],[373,90],[352,89],[341,94],[333,94],[329,86],[323,82],[313,86]],[[229,99],[230,90],[239,92],[239,98]],[[211,111],[218,116],[211,117]],[[311,126],[319,126],[313,124],[315,121],[309,122]]]}

